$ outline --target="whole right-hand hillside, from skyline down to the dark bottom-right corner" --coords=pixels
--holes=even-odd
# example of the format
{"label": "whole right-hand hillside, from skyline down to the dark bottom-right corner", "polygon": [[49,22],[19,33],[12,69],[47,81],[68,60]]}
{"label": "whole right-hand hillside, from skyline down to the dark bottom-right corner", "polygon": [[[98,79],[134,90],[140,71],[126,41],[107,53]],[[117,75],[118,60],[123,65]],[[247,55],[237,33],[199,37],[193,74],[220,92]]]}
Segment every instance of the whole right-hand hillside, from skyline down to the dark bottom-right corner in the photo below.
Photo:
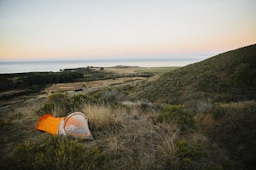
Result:
{"label": "whole right-hand hillside, from skyline down to the dark bottom-right corner", "polygon": [[255,44],[145,82],[137,87],[137,99],[184,105],[194,115],[198,132],[243,169],[255,167]]}

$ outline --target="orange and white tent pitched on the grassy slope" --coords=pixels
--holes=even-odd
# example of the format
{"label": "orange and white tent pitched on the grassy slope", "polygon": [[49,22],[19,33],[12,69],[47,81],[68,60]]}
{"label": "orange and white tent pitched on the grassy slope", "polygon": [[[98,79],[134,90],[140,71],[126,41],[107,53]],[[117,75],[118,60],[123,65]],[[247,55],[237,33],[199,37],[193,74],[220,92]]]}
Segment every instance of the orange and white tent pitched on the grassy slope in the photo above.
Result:
{"label": "orange and white tent pitched on the grassy slope", "polygon": [[66,117],[55,117],[51,114],[46,114],[39,118],[36,128],[52,134],[93,139],[87,119],[81,112],[73,112]]}

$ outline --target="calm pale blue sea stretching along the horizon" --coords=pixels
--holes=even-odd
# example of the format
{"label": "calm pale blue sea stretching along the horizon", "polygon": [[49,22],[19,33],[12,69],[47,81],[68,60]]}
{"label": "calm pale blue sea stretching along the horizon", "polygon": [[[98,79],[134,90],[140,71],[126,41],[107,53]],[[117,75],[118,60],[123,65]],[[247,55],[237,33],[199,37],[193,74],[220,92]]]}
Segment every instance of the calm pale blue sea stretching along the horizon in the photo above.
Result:
{"label": "calm pale blue sea stretching along the horizon", "polygon": [[111,67],[129,65],[141,67],[184,66],[202,59],[77,59],[44,61],[0,61],[0,74],[32,71],[60,71],[78,67]]}

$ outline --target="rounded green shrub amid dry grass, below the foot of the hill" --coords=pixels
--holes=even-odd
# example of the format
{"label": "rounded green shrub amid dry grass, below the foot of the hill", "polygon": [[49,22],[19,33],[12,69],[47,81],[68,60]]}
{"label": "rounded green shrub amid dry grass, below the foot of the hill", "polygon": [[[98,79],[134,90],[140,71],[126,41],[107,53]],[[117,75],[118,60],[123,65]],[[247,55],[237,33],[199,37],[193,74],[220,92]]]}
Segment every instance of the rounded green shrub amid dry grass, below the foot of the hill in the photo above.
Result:
{"label": "rounded green shrub amid dry grass, below the foot of the hill", "polygon": [[159,122],[177,122],[182,130],[195,128],[195,121],[189,111],[185,111],[183,105],[166,105],[158,116]]}

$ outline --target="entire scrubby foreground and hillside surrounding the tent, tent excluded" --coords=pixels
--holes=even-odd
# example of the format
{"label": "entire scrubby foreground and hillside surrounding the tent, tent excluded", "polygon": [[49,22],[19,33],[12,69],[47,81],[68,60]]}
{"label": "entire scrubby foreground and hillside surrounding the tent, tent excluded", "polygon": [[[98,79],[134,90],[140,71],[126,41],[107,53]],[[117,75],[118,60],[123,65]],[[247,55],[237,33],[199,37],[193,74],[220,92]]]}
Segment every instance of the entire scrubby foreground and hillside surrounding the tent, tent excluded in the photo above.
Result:
{"label": "entire scrubby foreground and hillside surrounding the tent, tent excluded", "polygon": [[[254,169],[255,47],[136,85],[57,92],[37,105],[0,108],[0,168]],[[87,116],[94,140],[34,129],[41,115],[73,111]]]}

